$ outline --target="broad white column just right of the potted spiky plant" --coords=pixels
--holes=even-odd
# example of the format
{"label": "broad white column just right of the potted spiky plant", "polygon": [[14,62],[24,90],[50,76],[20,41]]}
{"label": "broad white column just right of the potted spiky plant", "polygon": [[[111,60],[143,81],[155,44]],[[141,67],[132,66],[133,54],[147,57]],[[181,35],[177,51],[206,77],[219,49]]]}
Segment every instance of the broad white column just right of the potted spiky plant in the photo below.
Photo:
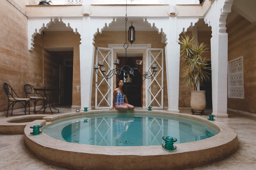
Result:
{"label": "broad white column just right of the potted spiky plant", "polygon": [[[212,27],[214,28],[214,27]],[[212,68],[212,114],[228,117],[227,78],[228,78],[228,34],[212,30],[211,38]]]}

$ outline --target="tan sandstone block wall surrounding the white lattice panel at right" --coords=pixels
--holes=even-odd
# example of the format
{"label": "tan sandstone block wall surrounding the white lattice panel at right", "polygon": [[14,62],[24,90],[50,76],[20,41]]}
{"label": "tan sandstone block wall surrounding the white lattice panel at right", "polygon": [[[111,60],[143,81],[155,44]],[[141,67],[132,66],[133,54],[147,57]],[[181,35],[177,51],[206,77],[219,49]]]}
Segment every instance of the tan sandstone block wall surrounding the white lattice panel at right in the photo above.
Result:
{"label": "tan sandstone block wall surrounding the white lattice panel at right", "polygon": [[229,25],[228,61],[243,56],[244,99],[228,98],[228,108],[256,113],[256,22],[238,16]]}

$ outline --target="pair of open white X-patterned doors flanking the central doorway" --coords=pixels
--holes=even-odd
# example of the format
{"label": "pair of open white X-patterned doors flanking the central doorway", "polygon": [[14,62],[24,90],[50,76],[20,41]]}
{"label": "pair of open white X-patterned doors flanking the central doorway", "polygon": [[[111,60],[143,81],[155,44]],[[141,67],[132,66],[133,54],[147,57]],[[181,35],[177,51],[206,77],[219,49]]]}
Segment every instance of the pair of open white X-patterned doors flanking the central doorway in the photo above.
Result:
{"label": "pair of open white X-patterned doors flanking the central doorway", "polygon": [[[128,55],[129,56],[129,55]],[[104,74],[110,74],[113,67],[113,48],[96,47],[96,63],[104,61]],[[152,64],[157,66],[157,72],[152,79],[146,79],[146,107],[151,106],[153,109],[163,109],[163,49],[147,48],[146,49],[146,70],[151,75]],[[100,70],[95,74],[95,109],[109,109],[113,101],[113,79],[104,78]],[[100,77],[101,76],[101,77]]]}

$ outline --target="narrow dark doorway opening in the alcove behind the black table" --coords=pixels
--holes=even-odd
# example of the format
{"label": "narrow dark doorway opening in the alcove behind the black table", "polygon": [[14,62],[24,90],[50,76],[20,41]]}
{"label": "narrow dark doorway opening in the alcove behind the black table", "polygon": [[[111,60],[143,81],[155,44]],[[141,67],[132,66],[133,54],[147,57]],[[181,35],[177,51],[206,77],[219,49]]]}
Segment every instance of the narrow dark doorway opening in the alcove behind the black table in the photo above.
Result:
{"label": "narrow dark doorway opening in the alcove behind the black table", "polygon": [[72,85],[73,85],[73,67],[65,67],[63,104],[72,105]]}

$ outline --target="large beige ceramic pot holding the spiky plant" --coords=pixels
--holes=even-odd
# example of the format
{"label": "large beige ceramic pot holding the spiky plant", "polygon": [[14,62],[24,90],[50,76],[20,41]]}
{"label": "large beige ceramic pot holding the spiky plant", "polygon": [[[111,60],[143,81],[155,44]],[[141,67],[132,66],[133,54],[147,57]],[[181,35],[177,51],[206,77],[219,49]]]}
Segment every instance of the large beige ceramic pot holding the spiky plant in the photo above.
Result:
{"label": "large beige ceramic pot holding the spiky plant", "polygon": [[191,91],[190,106],[193,110],[205,110],[205,107],[206,107],[205,90]]}

